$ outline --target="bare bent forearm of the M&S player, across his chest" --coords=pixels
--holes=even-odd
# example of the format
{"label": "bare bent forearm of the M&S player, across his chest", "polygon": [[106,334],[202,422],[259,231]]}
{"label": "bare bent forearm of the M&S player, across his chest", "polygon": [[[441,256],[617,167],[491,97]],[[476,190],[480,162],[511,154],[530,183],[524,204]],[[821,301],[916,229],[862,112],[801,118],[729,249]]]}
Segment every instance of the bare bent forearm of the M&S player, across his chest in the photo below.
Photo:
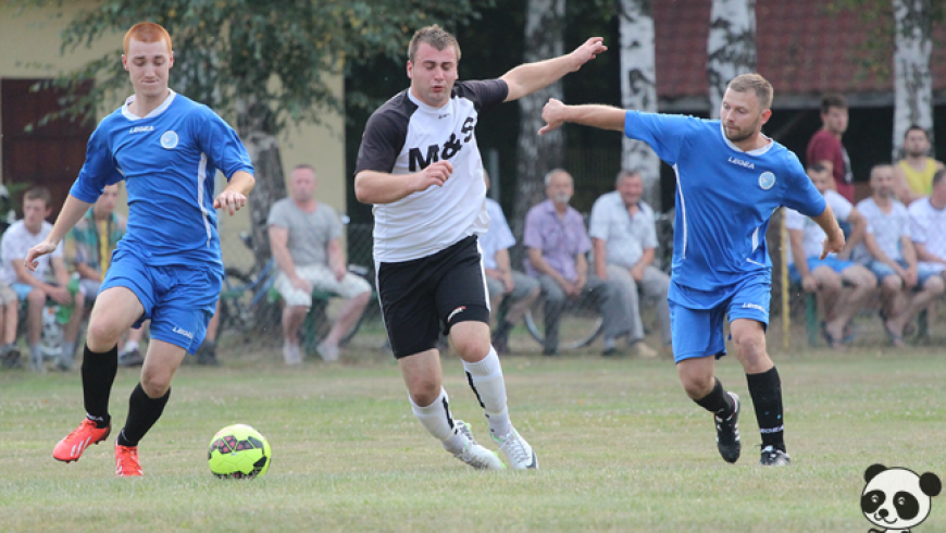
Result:
{"label": "bare bent forearm of the M&S player, across his chest", "polygon": [[452,173],[449,161],[431,163],[413,174],[361,171],[354,176],[354,196],[362,203],[393,203],[432,186],[443,186]]}

